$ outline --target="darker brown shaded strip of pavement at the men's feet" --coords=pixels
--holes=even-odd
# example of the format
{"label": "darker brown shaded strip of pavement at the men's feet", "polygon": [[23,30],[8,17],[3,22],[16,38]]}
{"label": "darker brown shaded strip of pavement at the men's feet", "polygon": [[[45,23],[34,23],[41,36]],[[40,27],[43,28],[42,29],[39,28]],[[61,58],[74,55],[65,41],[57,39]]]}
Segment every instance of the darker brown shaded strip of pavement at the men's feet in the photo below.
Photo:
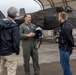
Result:
{"label": "darker brown shaded strip of pavement at the men's feet", "polygon": [[[76,75],[76,60],[71,60],[70,65],[73,75]],[[30,70],[30,75],[34,75],[33,65],[30,65]],[[4,75],[6,75],[6,68],[4,70]],[[18,66],[17,75],[25,75],[23,66]],[[40,64],[40,75],[63,75],[60,63],[53,62],[47,64]]]}

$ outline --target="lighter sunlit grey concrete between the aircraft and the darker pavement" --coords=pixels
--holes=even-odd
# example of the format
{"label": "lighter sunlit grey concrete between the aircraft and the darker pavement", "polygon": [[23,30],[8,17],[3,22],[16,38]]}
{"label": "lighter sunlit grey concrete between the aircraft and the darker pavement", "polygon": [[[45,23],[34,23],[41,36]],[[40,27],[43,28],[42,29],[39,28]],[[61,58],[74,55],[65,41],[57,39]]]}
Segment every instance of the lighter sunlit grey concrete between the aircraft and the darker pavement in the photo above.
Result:
{"label": "lighter sunlit grey concrete between the aircraft and the darker pavement", "polygon": [[[20,55],[18,57],[18,65],[23,65],[23,52],[22,47],[20,46]],[[59,61],[59,49],[58,44],[56,43],[47,43],[43,42],[41,47],[38,50],[39,52],[39,63],[51,63]],[[71,55],[71,59],[76,59],[76,50],[73,50],[73,54]],[[32,64],[32,59],[30,58],[30,63]]]}

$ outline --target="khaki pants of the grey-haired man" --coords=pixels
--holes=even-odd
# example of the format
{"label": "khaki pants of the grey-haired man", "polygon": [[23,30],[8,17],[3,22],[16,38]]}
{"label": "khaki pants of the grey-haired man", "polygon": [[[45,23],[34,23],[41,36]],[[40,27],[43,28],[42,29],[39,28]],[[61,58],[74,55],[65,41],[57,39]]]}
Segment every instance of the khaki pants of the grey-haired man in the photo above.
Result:
{"label": "khaki pants of the grey-haired man", "polygon": [[7,66],[7,75],[16,75],[17,55],[0,56],[0,75],[3,75],[4,66]]}

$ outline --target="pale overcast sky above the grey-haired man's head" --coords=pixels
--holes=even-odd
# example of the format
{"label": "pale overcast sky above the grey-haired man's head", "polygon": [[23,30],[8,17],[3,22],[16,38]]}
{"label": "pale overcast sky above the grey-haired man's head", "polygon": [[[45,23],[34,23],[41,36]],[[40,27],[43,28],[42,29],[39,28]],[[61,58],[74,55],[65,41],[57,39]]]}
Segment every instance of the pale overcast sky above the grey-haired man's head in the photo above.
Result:
{"label": "pale overcast sky above the grey-haired man's head", "polygon": [[18,9],[25,8],[27,13],[40,10],[40,6],[34,0],[0,0],[0,10],[6,15],[7,9],[14,6]]}

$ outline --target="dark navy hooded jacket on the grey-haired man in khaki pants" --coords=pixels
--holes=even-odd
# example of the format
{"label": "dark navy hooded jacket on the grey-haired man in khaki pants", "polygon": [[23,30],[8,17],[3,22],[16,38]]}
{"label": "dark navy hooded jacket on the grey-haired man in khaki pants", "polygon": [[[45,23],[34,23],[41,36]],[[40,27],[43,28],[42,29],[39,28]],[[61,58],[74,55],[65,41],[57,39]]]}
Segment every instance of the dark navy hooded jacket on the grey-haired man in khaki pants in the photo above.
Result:
{"label": "dark navy hooded jacket on the grey-haired man in khaki pants", "polygon": [[11,19],[0,20],[0,56],[19,54],[19,27]]}

